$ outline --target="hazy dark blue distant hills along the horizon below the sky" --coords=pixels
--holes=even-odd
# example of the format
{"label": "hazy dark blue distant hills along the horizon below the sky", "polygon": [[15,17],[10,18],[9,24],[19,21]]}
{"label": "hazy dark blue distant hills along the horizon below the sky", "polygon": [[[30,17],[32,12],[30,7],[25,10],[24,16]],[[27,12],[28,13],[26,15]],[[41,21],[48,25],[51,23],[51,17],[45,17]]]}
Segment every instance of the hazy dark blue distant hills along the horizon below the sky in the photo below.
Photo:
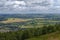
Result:
{"label": "hazy dark blue distant hills along the horizon below the sky", "polygon": [[60,14],[0,14],[0,21],[7,18],[48,18],[53,20],[60,20]]}

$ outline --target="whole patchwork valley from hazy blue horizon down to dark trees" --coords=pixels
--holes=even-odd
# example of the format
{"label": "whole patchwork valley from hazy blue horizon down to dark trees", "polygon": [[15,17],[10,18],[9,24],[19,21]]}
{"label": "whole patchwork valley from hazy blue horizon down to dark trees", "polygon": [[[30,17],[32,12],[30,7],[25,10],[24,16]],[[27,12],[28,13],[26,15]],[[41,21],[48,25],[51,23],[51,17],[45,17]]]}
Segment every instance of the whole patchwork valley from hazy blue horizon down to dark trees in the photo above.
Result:
{"label": "whole patchwork valley from hazy blue horizon down to dark trees", "polygon": [[1,14],[0,28],[40,28],[60,24],[59,14]]}

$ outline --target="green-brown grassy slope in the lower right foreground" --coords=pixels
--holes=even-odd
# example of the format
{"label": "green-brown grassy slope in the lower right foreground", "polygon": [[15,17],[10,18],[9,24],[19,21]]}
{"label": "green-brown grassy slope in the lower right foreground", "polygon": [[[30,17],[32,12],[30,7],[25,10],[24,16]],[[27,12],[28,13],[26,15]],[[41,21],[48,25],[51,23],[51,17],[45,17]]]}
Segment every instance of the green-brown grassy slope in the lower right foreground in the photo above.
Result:
{"label": "green-brown grassy slope in the lower right foreground", "polygon": [[39,37],[34,37],[26,40],[60,40],[60,32],[54,32]]}

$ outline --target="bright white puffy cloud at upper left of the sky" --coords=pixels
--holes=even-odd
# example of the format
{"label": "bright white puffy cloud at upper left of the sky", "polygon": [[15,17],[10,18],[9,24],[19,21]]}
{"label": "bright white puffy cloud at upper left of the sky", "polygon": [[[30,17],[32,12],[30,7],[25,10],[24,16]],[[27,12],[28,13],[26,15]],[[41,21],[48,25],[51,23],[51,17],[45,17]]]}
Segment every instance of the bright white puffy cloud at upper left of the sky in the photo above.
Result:
{"label": "bright white puffy cloud at upper left of the sky", "polygon": [[24,6],[24,5],[26,5],[25,4],[25,2],[24,1],[7,1],[6,3],[5,3],[5,6],[7,7],[7,6],[12,6],[12,7],[18,7],[18,6]]}

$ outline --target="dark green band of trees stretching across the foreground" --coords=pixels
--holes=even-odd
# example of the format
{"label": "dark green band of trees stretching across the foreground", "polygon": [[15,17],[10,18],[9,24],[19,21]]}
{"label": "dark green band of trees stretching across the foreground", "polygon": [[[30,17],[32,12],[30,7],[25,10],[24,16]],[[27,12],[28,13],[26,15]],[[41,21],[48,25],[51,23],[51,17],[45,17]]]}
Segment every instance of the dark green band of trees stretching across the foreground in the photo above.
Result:
{"label": "dark green band of trees stretching across the foreground", "polygon": [[55,31],[60,31],[60,25],[49,25],[41,28],[30,28],[14,32],[0,32],[0,40],[25,40],[31,37],[37,37]]}

